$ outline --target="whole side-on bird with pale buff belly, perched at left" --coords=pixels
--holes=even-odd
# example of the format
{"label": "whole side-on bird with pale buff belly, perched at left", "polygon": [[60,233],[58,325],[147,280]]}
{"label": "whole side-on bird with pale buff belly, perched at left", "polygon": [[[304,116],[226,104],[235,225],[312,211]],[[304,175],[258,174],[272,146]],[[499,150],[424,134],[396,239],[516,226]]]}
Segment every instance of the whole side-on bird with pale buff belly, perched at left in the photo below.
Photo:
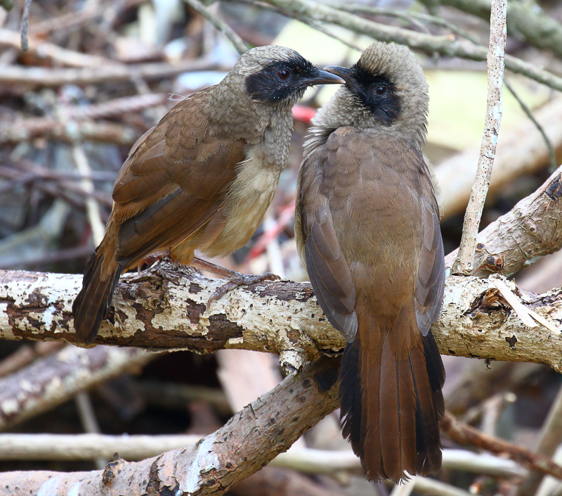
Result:
{"label": "whole side-on bird with pale buff belly, perched at left", "polygon": [[244,246],[287,165],[292,106],[313,84],[343,82],[292,49],[259,46],[143,134],[117,176],[105,236],[72,305],[77,343],[93,342],[120,274],[149,255],[189,265],[196,249],[216,257]]}

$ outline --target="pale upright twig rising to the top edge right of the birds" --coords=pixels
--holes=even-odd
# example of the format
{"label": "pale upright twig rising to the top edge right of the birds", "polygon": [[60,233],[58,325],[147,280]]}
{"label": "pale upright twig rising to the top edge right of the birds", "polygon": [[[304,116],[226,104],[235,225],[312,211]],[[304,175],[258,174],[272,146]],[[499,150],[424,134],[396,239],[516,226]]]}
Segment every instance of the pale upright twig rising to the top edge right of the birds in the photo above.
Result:
{"label": "pale upright twig rising to the top edge right of the birds", "polygon": [[469,205],[464,214],[462,239],[457,260],[452,265],[452,274],[469,275],[472,272],[472,260],[476,250],[476,236],[482,217],[484,201],[490,185],[490,176],[494,166],[499,125],[502,122],[502,87],[504,80],[504,56],[506,31],[507,0],[492,0],[490,16],[490,48],[488,51],[488,105],[486,122],[478,170],[472,186]]}

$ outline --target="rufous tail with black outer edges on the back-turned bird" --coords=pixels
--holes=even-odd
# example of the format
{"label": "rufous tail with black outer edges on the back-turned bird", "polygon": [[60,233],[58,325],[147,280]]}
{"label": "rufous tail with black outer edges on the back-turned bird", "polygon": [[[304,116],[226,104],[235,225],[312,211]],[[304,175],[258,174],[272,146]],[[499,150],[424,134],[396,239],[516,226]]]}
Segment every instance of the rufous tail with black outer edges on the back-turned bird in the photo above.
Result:
{"label": "rufous tail with black outer edges on the back-turned bird", "polygon": [[403,308],[386,329],[375,317],[359,319],[341,364],[342,430],[371,481],[441,466],[445,370],[431,331],[422,336],[408,313]]}

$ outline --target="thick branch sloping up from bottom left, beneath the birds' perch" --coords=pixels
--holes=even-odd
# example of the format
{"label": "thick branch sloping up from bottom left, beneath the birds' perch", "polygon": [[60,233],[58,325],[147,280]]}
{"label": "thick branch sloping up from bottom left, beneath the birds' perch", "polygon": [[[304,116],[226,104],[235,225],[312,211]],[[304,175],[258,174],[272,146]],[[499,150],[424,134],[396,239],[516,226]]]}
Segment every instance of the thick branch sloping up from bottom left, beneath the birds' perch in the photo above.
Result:
{"label": "thick branch sloping up from bottom left, beneath the birds' perch", "polygon": [[[235,414],[197,445],[142,462],[117,459],[105,471],[25,471],[0,474],[0,495],[87,494],[204,496],[223,494],[337,407],[339,364],[324,359]],[[290,419],[291,428],[287,428]]]}

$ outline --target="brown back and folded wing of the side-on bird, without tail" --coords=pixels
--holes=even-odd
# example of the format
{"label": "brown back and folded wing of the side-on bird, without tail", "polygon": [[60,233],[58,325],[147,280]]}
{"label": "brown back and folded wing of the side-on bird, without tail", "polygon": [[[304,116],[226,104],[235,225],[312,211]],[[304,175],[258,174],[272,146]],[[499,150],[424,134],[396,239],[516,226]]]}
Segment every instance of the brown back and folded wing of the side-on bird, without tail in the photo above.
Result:
{"label": "brown back and folded wing of the side-on bird, without tail", "polygon": [[[132,267],[173,246],[216,213],[244,160],[243,140],[217,134],[204,91],[178,103],[133,147],[113,191],[117,260]],[[181,113],[178,121],[176,113]]]}

